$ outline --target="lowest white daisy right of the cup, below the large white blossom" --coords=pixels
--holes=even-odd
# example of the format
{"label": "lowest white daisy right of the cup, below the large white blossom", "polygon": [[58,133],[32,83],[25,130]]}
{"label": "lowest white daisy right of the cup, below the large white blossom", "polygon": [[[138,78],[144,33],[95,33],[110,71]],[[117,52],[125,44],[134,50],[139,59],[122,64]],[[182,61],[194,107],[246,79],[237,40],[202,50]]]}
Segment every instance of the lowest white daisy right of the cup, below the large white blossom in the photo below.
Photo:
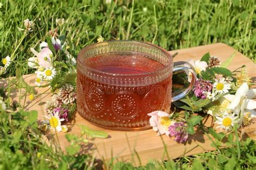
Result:
{"label": "lowest white daisy right of the cup, below the large white blossom", "polygon": [[217,119],[215,123],[219,124],[219,126],[217,126],[216,129],[220,128],[221,131],[223,129],[225,131],[231,130],[234,124],[238,122],[237,116],[234,116],[234,114],[229,115],[227,112],[223,115],[223,117],[215,116],[215,118]]}

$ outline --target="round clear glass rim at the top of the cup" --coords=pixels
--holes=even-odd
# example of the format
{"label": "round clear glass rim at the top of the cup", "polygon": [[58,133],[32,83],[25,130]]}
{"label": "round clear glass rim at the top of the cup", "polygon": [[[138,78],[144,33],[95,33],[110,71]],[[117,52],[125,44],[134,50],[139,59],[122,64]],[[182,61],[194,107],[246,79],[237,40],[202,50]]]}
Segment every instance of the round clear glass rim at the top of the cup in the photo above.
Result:
{"label": "round clear glass rim at the top of the cup", "polygon": [[[166,63],[166,65],[164,67],[161,67],[160,69],[157,69],[153,72],[147,72],[147,73],[138,73],[138,74],[119,74],[119,73],[109,73],[109,72],[104,72],[102,70],[96,69],[96,68],[92,68],[90,66],[87,66],[86,63],[83,63],[81,61],[81,58],[83,57],[82,55],[85,53],[85,51],[87,49],[90,49],[93,46],[96,45],[102,45],[102,44],[107,44],[107,43],[114,43],[114,42],[134,42],[134,43],[138,43],[138,44],[146,44],[146,45],[150,45],[152,47],[158,48],[161,51],[163,51],[167,56],[169,56],[169,61]],[[132,52],[132,51],[131,51]],[[85,69],[88,69],[92,72],[97,72],[100,74],[105,74],[105,75],[110,75],[110,76],[150,76],[150,75],[154,75],[154,74],[158,74],[161,73],[163,70],[165,70],[167,67],[171,67],[172,68],[172,55],[171,53],[169,53],[168,51],[166,51],[166,49],[159,47],[157,45],[151,44],[149,42],[142,42],[142,41],[134,41],[134,40],[109,40],[109,41],[103,41],[103,42],[96,42],[90,45],[87,45],[86,47],[82,48],[81,51],[78,53],[78,58],[77,61],[81,63],[81,65],[83,67],[85,67]]]}

